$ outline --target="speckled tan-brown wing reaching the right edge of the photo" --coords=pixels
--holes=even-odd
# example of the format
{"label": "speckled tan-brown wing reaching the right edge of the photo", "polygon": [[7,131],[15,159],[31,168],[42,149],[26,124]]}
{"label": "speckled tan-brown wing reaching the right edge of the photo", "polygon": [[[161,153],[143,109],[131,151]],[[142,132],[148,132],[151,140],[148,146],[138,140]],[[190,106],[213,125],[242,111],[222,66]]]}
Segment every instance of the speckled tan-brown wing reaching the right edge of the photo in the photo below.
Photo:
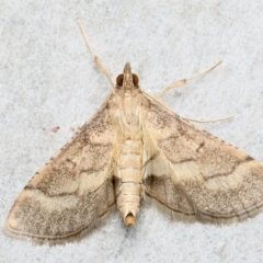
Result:
{"label": "speckled tan-brown wing reaching the right edge of the photo", "polygon": [[263,203],[263,165],[151,103],[146,121],[146,193],[172,210],[224,221],[256,214]]}

